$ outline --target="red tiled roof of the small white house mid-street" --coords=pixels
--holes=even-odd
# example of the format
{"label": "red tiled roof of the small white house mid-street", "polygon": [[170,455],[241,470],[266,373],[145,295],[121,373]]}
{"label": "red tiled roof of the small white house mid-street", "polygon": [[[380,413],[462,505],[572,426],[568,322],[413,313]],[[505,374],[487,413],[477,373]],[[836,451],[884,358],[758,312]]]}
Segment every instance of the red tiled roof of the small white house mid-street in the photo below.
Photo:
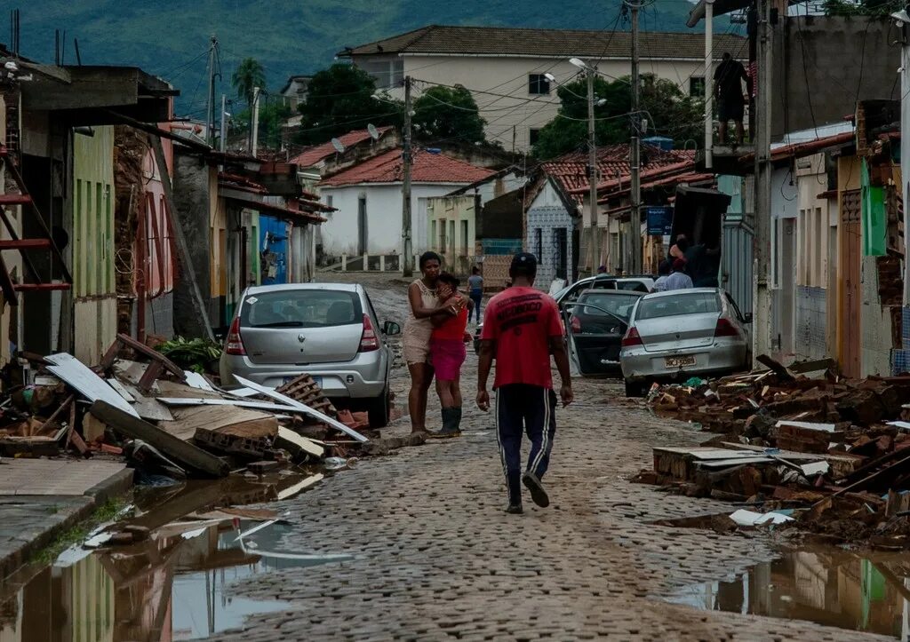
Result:
{"label": "red tiled roof of the small white house mid-street", "polygon": [[[329,176],[319,185],[338,187],[360,183],[399,183],[401,173],[401,150],[397,148]],[[410,179],[414,183],[475,183],[495,174],[492,169],[419,149],[414,152]]]}

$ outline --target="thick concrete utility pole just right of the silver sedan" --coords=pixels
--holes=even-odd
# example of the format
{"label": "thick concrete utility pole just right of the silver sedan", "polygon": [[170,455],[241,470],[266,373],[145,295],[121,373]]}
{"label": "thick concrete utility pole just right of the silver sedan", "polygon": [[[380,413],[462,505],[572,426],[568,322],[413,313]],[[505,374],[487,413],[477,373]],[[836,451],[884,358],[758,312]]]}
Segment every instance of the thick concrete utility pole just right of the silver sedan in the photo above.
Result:
{"label": "thick concrete utility pole just right of the silver sedan", "polygon": [[771,0],[757,0],[753,359],[771,354]]}

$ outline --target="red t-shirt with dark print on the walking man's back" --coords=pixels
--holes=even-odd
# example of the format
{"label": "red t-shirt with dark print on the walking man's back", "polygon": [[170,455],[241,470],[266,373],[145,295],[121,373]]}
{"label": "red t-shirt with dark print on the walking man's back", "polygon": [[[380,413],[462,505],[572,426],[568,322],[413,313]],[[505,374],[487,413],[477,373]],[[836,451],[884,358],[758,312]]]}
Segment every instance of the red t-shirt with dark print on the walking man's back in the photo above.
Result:
{"label": "red t-shirt with dark print on the walking man's back", "polygon": [[493,388],[509,384],[552,388],[551,336],[562,336],[560,310],[551,296],[533,287],[510,287],[493,296],[480,336],[496,342]]}

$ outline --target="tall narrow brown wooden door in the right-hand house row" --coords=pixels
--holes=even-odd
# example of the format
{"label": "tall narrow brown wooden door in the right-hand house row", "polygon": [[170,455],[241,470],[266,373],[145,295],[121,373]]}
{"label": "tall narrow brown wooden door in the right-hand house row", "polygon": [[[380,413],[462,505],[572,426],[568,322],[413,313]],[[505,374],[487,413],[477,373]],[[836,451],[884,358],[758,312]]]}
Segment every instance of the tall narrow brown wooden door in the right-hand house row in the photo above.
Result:
{"label": "tall narrow brown wooden door in the right-hand house row", "polygon": [[838,360],[846,376],[862,375],[862,333],[860,326],[862,297],[860,271],[862,262],[862,197],[860,190],[841,195],[840,212],[840,318],[838,318]]}

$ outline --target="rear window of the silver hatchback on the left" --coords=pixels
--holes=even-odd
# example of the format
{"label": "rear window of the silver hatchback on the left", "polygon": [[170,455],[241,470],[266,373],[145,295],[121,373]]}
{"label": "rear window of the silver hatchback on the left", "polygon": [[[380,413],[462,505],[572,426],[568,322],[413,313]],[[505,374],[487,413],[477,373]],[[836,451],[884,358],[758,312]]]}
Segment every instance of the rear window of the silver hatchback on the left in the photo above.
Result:
{"label": "rear window of the silver hatchback on the left", "polygon": [[363,323],[360,298],[342,290],[288,289],[248,296],[241,327],[332,327]]}

